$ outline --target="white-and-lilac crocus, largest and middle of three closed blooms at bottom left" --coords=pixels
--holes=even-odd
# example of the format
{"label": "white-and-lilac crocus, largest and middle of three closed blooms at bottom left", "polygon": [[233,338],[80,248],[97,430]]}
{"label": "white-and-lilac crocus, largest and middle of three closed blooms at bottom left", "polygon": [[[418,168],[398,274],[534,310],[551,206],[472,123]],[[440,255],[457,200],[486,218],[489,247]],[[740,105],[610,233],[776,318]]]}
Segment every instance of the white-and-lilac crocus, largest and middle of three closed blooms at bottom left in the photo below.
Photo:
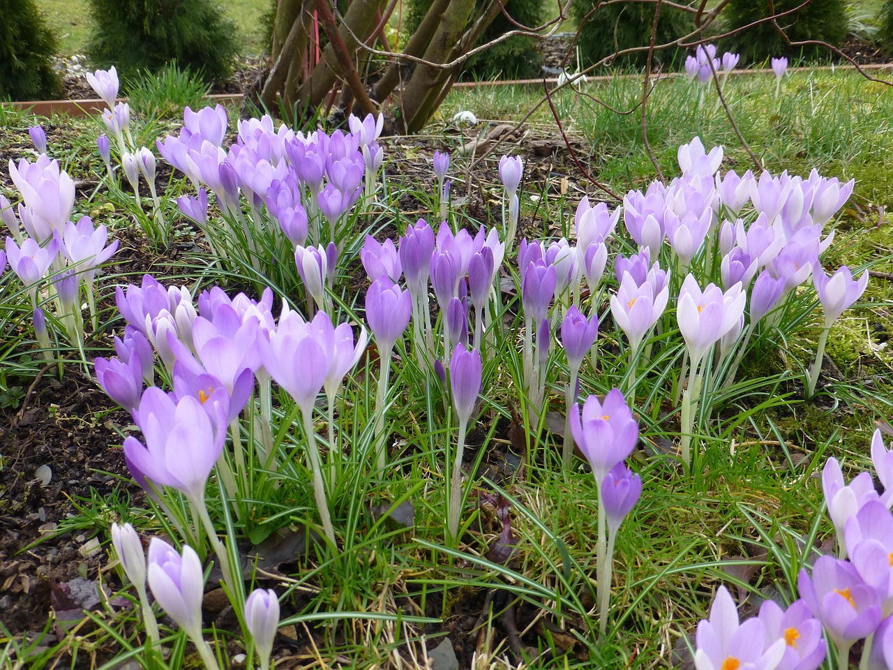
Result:
{"label": "white-and-lilac crocus, largest and middle of three closed blooms at bottom left", "polygon": [[202,637],[204,570],[195,549],[183,546],[180,556],[167,542],[152,538],[147,571],[152,595],[192,640]]}

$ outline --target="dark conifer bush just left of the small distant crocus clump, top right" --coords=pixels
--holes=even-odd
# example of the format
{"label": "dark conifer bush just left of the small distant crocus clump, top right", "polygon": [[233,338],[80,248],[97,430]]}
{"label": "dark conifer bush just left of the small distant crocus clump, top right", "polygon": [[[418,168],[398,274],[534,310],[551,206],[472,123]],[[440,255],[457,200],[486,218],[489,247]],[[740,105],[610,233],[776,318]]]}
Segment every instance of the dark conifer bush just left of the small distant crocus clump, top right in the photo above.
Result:
{"label": "dark conifer bush just left of the small distant crocus clump, top right", "polygon": [[[623,49],[648,46],[655,22],[655,4],[630,2],[607,4],[592,12],[597,0],[580,0],[572,4],[573,16],[580,21],[580,53],[586,64],[597,63]],[[585,21],[584,21],[585,20]],[[691,14],[663,5],[657,19],[655,45],[666,44],[688,35],[695,29]],[[680,62],[680,49],[655,50],[653,63]],[[647,63],[647,50],[624,54],[611,63],[619,67],[642,67]]]}

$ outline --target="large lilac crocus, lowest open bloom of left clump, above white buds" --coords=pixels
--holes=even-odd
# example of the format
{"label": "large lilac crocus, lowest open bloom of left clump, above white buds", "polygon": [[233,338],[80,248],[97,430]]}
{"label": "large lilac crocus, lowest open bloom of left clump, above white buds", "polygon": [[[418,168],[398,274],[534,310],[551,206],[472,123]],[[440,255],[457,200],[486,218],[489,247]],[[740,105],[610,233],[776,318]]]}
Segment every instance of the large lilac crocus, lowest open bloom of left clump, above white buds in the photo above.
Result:
{"label": "large lilac crocus, lowest open bloom of left clump, above white buds", "polygon": [[138,471],[158,485],[170,486],[203,504],[204,484],[226,441],[225,421],[217,430],[197,398],[175,403],[162,389],[143,392],[134,422],[143,432],[144,446],[134,437],[124,440],[124,453]]}

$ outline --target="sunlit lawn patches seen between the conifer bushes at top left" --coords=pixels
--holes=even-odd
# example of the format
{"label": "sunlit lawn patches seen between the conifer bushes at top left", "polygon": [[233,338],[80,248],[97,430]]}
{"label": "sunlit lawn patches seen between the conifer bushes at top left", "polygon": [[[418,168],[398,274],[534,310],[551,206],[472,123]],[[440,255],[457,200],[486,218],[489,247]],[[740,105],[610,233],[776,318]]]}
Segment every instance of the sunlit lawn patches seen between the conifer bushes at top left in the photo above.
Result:
{"label": "sunlit lawn patches seen between the conifer bushes at top left", "polygon": [[[37,0],[37,4],[59,38],[60,53],[83,54],[90,30],[87,0]],[[219,4],[236,21],[245,53],[263,53],[263,14],[269,11],[270,0],[221,0]]]}

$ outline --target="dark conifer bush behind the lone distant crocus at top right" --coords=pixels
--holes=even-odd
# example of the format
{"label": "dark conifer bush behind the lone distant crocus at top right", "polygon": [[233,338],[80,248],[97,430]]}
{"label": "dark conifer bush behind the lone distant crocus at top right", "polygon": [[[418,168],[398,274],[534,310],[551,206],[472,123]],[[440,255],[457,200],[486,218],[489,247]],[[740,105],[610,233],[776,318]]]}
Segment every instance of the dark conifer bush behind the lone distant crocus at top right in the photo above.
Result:
{"label": "dark conifer bush behind the lone distant crocus at top right", "polygon": [[[774,0],[776,14],[789,12],[803,0]],[[730,0],[722,13],[726,29],[743,28],[771,16],[769,0]],[[820,40],[840,46],[847,39],[847,4],[844,0],[813,0],[804,8],[777,20],[789,40]],[[827,56],[822,46],[789,46],[772,21],[764,21],[723,40],[722,48],[741,54],[748,63],[760,63],[773,56],[818,58]]]}

